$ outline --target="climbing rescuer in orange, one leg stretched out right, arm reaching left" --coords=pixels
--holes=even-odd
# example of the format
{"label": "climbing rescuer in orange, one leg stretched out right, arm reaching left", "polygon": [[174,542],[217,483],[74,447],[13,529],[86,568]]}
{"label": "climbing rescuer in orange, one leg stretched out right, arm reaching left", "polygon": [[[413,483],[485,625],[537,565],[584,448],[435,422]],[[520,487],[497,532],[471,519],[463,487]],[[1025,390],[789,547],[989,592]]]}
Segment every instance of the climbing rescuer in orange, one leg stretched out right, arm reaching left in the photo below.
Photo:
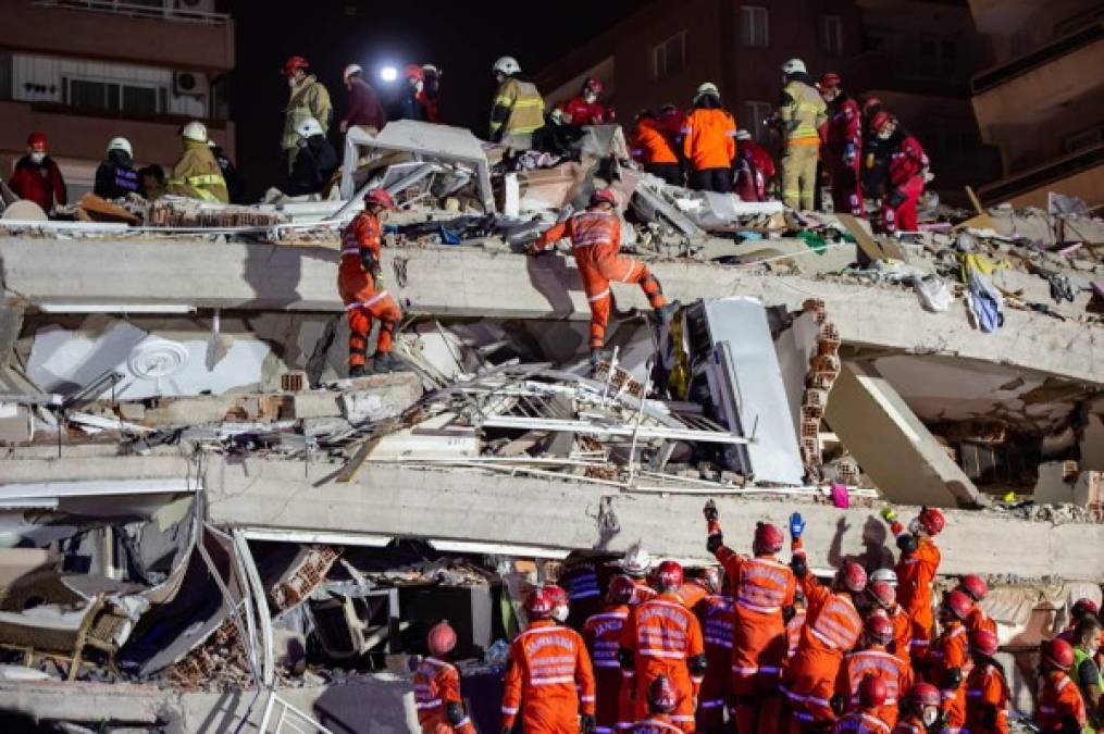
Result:
{"label": "climbing rescuer in orange, one leg stretched out right, arm reaching left", "polygon": [[571,238],[583,290],[591,305],[591,349],[605,344],[606,325],[609,322],[609,281],[635,283],[640,286],[652,308],[667,305],[659,281],[648,266],[620,256],[620,221],[612,212],[585,211],[556,224],[537,241],[538,249],[545,249],[563,237]]}

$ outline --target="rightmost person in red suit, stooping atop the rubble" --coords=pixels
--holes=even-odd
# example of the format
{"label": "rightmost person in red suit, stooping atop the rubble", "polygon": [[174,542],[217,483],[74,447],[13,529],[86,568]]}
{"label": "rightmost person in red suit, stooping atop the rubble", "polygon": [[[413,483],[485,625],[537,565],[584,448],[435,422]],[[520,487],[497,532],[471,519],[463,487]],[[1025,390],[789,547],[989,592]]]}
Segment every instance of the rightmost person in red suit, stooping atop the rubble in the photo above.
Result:
{"label": "rightmost person in red suit, stooping atop the rubble", "polygon": [[927,156],[920,140],[905,131],[898,118],[882,110],[874,115],[871,127],[879,140],[890,149],[890,164],[882,201],[882,230],[889,234],[915,232],[916,202],[927,182]]}

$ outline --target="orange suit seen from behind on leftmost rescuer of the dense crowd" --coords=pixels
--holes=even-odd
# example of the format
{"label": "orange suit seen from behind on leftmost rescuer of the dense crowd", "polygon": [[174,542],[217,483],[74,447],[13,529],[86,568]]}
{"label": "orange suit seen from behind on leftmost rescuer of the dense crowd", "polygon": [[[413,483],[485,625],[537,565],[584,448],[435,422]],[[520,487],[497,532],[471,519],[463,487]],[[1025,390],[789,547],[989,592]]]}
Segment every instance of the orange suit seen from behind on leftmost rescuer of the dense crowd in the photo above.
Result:
{"label": "orange suit seen from behind on leftmost rescuer of the dense crowd", "polygon": [[538,619],[510,643],[502,726],[518,713],[526,734],[578,734],[578,715],[594,715],[594,671],[578,632]]}

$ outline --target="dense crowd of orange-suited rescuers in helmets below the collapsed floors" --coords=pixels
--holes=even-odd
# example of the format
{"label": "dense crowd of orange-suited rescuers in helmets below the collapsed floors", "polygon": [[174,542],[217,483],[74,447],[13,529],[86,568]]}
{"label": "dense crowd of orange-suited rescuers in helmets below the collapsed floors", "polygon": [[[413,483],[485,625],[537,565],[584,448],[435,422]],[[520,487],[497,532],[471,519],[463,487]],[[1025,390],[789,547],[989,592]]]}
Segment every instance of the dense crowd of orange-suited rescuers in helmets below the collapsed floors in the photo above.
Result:
{"label": "dense crowd of orange-suited rescuers in helmets below the collapsed floors", "polygon": [[[785,534],[756,524],[750,555],[725,544],[705,504],[718,566],[683,574],[651,565],[639,545],[618,563],[567,565],[560,585],[524,599],[528,627],[510,645],[501,733],[524,734],[1005,734],[1010,671],[980,576],[934,599],[935,538],[946,519],[923,508],[907,525],[882,517],[900,549],[894,568],[842,562],[830,583],[809,570],[805,520]],[[689,577],[692,576],[692,577]],[[1041,732],[1080,734],[1101,720],[1097,605],[1080,599],[1068,629],[1042,643],[1036,713]],[[474,734],[456,634],[429,630],[414,677],[423,734]]]}

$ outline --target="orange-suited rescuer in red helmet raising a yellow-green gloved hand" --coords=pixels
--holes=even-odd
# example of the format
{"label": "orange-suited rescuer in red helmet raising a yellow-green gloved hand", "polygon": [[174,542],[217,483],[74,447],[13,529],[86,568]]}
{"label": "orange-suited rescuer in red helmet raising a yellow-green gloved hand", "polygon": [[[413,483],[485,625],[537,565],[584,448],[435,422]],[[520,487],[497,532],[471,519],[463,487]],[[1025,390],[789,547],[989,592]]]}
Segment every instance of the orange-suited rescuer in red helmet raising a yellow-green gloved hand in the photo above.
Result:
{"label": "orange-suited rescuer in red helmet raising a yellow-green gloved hand", "polygon": [[890,530],[901,549],[898,561],[898,603],[912,619],[912,643],[910,655],[924,659],[932,643],[932,582],[940,570],[940,549],[933,540],[943,531],[946,520],[935,508],[924,508],[905,529],[896,520],[891,508],[882,510],[882,517],[890,523]]}

